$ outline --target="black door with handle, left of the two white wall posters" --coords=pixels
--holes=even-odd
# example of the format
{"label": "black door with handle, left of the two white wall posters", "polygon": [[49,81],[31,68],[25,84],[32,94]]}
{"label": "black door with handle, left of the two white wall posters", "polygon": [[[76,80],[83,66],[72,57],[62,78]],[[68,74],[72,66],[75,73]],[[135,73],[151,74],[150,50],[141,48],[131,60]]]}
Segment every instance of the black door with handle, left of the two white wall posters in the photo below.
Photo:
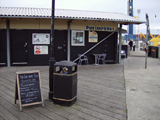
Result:
{"label": "black door with handle, left of the two white wall posters", "polygon": [[27,65],[27,31],[11,30],[11,64]]}

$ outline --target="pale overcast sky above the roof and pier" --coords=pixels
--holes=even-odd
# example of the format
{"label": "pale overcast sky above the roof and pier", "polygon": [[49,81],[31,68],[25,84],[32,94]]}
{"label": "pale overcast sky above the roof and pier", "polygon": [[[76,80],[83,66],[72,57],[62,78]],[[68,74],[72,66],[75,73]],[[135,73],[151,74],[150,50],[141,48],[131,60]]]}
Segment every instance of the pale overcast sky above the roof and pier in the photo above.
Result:
{"label": "pale overcast sky above the roof and pier", "polygon": [[[128,0],[55,0],[55,8],[118,12],[127,14]],[[0,7],[51,8],[52,0],[0,0]],[[148,13],[151,34],[160,34],[160,0],[133,0],[134,16],[141,9],[139,19],[146,21]],[[155,17],[156,15],[156,17]],[[127,29],[127,26],[123,28]],[[140,32],[146,34],[146,25],[139,25]],[[138,33],[138,26],[134,27]]]}

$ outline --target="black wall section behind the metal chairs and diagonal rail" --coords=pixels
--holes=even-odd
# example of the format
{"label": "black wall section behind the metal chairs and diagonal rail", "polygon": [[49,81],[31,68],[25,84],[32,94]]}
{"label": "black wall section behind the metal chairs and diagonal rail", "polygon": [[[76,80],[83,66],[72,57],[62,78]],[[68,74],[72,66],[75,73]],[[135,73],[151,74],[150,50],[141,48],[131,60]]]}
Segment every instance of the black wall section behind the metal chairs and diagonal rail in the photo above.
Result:
{"label": "black wall section behind the metal chairs and diagonal rail", "polygon": [[[98,34],[98,42],[111,33],[106,31],[96,31],[96,32]],[[78,57],[78,54],[83,54],[95,44],[97,43],[88,42],[88,31],[85,31],[85,46],[71,46],[71,61],[75,60]],[[93,54],[101,54],[101,53],[107,54],[106,60],[112,61],[112,63],[117,62],[116,61],[117,32],[86,54],[88,57],[89,64],[93,64],[95,62]]]}

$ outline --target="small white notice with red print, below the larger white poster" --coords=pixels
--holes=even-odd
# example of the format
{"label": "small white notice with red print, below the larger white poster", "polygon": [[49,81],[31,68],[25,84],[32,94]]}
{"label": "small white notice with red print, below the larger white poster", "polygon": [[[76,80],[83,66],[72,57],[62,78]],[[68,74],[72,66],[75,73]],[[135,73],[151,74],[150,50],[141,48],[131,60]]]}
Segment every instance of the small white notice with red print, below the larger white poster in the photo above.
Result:
{"label": "small white notice with red print, below the larger white poster", "polygon": [[48,54],[48,46],[34,46],[34,54],[35,55]]}

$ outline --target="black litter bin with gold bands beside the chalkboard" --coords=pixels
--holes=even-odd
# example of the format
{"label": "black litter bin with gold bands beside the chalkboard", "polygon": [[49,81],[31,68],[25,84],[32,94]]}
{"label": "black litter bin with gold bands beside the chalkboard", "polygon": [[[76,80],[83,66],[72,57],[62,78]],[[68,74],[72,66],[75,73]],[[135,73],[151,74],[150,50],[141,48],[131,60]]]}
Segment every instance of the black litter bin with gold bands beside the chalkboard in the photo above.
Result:
{"label": "black litter bin with gold bands beside the chalkboard", "polygon": [[77,63],[61,61],[54,64],[53,101],[71,106],[77,101]]}

